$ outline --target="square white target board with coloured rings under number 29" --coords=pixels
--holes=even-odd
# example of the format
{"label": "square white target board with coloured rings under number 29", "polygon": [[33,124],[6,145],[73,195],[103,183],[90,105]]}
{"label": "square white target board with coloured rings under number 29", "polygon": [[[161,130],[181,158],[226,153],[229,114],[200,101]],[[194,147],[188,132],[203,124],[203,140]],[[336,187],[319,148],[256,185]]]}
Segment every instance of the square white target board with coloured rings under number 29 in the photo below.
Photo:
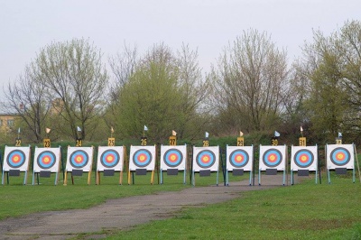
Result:
{"label": "square white target board with coloured rings under number 29", "polygon": [[254,163],[254,146],[227,145],[227,171],[243,169],[252,171]]}

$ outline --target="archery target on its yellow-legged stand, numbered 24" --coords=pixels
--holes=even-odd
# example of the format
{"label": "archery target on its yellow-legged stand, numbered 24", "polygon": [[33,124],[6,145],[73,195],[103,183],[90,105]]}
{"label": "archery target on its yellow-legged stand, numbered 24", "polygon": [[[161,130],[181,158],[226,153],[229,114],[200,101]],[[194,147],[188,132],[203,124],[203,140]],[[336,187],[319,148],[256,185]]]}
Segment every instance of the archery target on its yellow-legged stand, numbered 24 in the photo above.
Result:
{"label": "archery target on its yellow-legged stand, numbered 24", "polygon": [[88,172],[88,185],[90,185],[91,169],[93,165],[94,147],[70,147],[67,152],[67,165],[65,167],[64,186],[68,185],[68,172],[71,173],[72,184],[74,176],[81,177]]}

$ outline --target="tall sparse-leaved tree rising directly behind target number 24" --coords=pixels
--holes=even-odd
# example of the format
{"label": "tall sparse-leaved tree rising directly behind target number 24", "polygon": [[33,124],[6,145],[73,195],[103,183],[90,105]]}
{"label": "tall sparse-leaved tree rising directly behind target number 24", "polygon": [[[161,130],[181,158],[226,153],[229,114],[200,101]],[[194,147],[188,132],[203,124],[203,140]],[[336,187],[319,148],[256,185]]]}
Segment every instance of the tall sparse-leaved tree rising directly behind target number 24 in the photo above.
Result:
{"label": "tall sparse-leaved tree rising directly behind target number 24", "polygon": [[42,82],[49,96],[60,101],[52,123],[61,134],[77,138],[80,126],[84,139],[96,131],[108,81],[101,57],[101,51],[84,39],[54,42],[38,54],[34,64]]}

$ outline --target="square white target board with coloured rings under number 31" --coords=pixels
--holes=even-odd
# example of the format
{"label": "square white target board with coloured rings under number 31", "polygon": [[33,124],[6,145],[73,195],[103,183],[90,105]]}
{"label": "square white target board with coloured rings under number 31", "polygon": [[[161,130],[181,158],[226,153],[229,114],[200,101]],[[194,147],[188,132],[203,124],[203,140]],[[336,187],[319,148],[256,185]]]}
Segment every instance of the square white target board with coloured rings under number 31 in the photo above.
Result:
{"label": "square white target board with coloured rings under number 31", "polygon": [[318,161],[317,145],[291,147],[291,171],[317,171]]}

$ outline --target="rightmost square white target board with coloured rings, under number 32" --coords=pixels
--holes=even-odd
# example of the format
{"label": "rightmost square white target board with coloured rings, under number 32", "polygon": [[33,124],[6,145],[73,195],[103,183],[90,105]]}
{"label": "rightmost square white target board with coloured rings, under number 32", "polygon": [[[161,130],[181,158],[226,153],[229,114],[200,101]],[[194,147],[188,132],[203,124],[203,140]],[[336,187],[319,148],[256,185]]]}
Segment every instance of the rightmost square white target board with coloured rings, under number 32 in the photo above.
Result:
{"label": "rightmost square white target board with coloured rings, under number 32", "polygon": [[327,144],[327,168],[354,169],[354,144]]}

